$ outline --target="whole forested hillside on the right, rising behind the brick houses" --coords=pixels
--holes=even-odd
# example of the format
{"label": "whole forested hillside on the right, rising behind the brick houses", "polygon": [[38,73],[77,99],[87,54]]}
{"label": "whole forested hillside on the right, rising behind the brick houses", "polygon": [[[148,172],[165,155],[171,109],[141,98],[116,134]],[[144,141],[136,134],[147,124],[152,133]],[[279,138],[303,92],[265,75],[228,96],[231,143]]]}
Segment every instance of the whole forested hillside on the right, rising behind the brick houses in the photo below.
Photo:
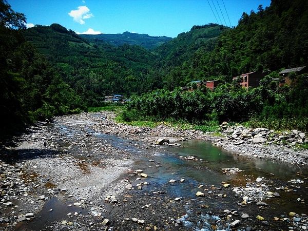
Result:
{"label": "whole forested hillside on the right, rising behind the brick houses", "polygon": [[232,76],[253,70],[274,71],[307,64],[308,1],[273,0],[266,9],[260,5],[258,12],[243,13],[233,29],[209,26],[222,32],[217,40],[198,43],[191,33],[200,29],[193,27],[156,49],[161,58],[158,73],[166,89],[187,80],[229,82]]}

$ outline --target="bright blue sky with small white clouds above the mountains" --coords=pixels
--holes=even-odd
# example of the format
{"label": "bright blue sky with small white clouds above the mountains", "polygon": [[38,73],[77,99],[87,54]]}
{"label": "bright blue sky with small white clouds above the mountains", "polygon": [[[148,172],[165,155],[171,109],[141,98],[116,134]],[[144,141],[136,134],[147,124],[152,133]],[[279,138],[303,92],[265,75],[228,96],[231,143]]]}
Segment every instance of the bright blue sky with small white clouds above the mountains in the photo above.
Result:
{"label": "bright blue sky with small white clouds above the mountains", "polygon": [[176,37],[181,32],[189,31],[194,25],[218,21],[219,24],[236,26],[243,12],[257,11],[259,5],[265,8],[271,1],[8,0],[8,3],[13,10],[26,15],[28,26],[59,23],[79,33],[129,31]]}

